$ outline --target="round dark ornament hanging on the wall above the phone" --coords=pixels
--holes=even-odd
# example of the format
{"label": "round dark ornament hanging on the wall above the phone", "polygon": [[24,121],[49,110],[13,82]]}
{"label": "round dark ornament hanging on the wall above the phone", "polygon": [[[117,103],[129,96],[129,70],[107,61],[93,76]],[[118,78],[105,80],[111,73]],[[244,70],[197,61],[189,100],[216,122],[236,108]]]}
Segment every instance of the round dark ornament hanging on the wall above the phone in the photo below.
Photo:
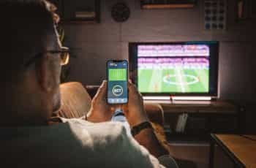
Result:
{"label": "round dark ornament hanging on the wall above the phone", "polygon": [[130,10],[127,4],[117,3],[114,4],[111,11],[112,18],[116,20],[116,22],[124,22],[128,20],[130,15]]}

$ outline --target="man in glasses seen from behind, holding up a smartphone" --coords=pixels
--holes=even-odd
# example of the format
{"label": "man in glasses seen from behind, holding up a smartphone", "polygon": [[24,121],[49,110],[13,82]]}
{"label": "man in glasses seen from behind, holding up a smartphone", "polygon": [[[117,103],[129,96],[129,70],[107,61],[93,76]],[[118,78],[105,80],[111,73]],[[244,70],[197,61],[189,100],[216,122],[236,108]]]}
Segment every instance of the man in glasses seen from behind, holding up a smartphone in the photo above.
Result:
{"label": "man in glasses seen from behind, holding up a smartphone", "polygon": [[[132,138],[121,123],[105,122],[114,108],[105,101],[106,82],[87,121],[62,118],[63,123],[48,125],[60,107],[59,76],[68,51],[59,42],[56,15],[44,0],[2,0],[0,8],[1,167],[162,167],[167,150],[152,129]],[[148,121],[132,83],[126,109],[131,127]]]}

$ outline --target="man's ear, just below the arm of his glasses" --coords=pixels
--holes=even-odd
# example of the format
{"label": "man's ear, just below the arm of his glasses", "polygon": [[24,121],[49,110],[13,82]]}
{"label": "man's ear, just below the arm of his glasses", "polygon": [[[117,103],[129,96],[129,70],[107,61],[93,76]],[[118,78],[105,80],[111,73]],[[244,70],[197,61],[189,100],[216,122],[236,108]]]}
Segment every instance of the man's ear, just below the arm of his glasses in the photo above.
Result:
{"label": "man's ear, just below the arm of his glasses", "polygon": [[40,88],[46,92],[53,91],[54,87],[53,77],[51,75],[53,72],[50,71],[49,61],[49,56],[46,55],[36,64],[37,81]]}

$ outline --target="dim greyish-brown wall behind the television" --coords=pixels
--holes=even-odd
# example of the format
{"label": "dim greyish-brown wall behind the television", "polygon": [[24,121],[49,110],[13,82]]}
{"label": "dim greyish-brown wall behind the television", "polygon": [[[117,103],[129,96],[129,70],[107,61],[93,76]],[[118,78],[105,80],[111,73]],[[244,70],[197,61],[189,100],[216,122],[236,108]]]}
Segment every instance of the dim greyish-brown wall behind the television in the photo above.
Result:
{"label": "dim greyish-brown wall behind the television", "polygon": [[218,40],[220,98],[242,101],[241,104],[255,102],[256,24],[255,20],[236,21],[235,0],[228,4],[227,31],[220,32],[203,31],[203,1],[193,9],[142,10],[139,1],[126,0],[131,16],[125,23],[116,23],[110,9],[117,1],[102,1],[99,24],[64,26],[65,45],[78,48],[78,58],[71,59],[69,80],[99,85],[105,79],[108,59],[128,59],[128,42]]}

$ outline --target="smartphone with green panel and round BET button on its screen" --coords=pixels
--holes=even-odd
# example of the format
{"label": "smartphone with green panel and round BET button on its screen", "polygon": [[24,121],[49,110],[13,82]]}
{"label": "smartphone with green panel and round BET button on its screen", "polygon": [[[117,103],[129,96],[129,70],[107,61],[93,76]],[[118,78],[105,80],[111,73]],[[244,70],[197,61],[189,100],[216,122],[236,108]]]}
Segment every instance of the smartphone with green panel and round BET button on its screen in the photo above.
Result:
{"label": "smartphone with green panel and round BET button on its screen", "polygon": [[110,60],[107,62],[108,104],[128,102],[128,61]]}

